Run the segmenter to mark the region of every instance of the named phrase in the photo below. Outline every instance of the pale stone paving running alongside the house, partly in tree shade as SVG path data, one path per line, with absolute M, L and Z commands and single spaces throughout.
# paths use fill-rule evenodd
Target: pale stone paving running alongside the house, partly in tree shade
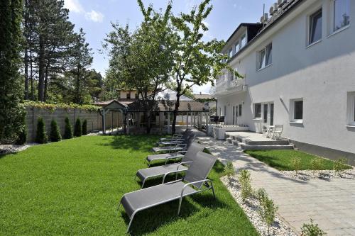
M 355 235 L 354 179 L 291 179 L 226 141 L 206 136 L 198 140 L 222 162 L 233 161 L 236 172 L 249 169 L 253 189 L 266 189 L 279 207 L 280 218 L 297 233 L 312 218 L 327 235 Z

